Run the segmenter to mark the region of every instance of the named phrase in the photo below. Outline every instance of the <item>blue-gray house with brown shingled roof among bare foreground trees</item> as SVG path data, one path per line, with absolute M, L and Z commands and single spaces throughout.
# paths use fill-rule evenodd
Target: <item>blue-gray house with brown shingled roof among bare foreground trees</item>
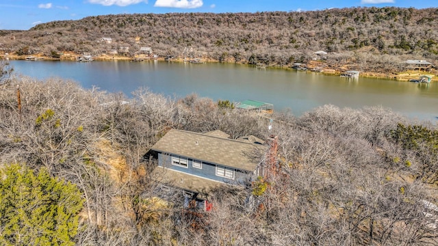
M 158 166 L 153 175 L 162 189 L 183 191 L 196 206 L 206 208 L 209 191 L 223 184 L 246 187 L 266 168 L 255 153 L 268 153 L 265 142 L 254 136 L 229 139 L 222 131 L 194 133 L 172 129 L 151 148 Z

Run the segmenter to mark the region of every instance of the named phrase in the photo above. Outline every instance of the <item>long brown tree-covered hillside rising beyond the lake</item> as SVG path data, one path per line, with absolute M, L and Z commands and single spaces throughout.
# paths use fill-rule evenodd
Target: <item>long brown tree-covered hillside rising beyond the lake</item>
M 329 64 L 394 69 L 438 57 L 438 9 L 344 8 L 308 12 L 118 14 L 54 21 L 1 37 L 4 51 L 92 53 L 150 46 L 162 57 L 289 64 L 329 52 Z M 101 38 L 113 42 L 101 42 Z

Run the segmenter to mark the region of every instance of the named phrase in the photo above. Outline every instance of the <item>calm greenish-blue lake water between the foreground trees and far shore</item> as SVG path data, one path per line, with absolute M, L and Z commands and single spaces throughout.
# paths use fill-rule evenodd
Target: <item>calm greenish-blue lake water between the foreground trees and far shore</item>
M 438 85 L 389 79 L 346 79 L 284 68 L 260 70 L 240 64 L 190 64 L 167 61 L 10 61 L 17 74 L 38 79 L 61 77 L 85 88 L 131 92 L 149 87 L 152 92 L 183 97 L 196 93 L 213 100 L 260 100 L 274 110 L 301 115 L 331 104 L 359 109 L 382 105 L 411 118 L 436 122 Z

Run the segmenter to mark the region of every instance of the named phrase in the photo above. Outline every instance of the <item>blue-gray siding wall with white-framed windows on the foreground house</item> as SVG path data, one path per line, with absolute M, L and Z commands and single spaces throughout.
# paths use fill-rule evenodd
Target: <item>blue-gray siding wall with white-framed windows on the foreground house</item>
M 176 155 L 173 155 L 175 157 L 179 157 Z M 184 157 L 184 156 L 181 156 Z M 197 160 L 200 161 L 200 160 Z M 209 178 L 211 180 L 216 180 L 220 182 L 226 182 L 231 184 L 244 184 L 244 182 L 247 182 L 250 180 L 251 176 L 253 175 L 252 172 L 246 172 L 239 169 L 234 169 L 234 179 L 230 178 L 224 178 L 222 176 L 216 175 L 216 165 L 213 163 L 202 163 L 202 169 L 193 167 L 193 159 L 188 158 L 188 167 L 180 167 L 178 165 L 172 165 L 172 155 L 171 154 L 164 154 L 159 153 L 158 154 L 158 165 L 160 167 L 166 167 L 168 169 L 173 169 L 179 172 L 185 172 L 187 174 L 192 174 L 196 176 L 200 176 L 203 178 Z M 223 167 L 223 166 L 220 166 Z

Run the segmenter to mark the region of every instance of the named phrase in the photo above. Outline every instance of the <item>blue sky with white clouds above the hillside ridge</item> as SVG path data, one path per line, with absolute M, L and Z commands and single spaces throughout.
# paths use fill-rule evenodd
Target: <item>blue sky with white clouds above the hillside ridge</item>
M 311 11 L 350 7 L 437 8 L 437 0 L 0 0 L 0 29 L 104 14 Z

